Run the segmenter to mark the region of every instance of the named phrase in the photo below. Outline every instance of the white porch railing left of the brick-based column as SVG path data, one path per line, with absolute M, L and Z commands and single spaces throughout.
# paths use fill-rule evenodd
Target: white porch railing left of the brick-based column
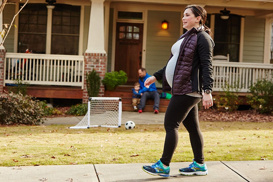
M 83 56 L 6 53 L 4 69 L 4 85 L 22 79 L 31 85 L 81 86 L 83 89 Z

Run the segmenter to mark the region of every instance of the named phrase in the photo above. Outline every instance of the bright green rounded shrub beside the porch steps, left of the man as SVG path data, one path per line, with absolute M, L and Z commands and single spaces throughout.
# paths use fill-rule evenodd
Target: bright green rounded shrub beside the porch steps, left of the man
M 105 73 L 102 83 L 106 86 L 107 90 L 115 90 L 117 86 L 125 84 L 127 79 L 126 72 L 122 70 L 120 72 L 112 71 Z

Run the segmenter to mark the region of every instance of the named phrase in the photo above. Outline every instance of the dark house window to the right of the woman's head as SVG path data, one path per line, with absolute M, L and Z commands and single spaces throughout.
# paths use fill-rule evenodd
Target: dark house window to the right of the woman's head
M 239 62 L 241 17 L 230 16 L 223 20 L 215 15 L 214 56 L 229 54 L 230 62 Z

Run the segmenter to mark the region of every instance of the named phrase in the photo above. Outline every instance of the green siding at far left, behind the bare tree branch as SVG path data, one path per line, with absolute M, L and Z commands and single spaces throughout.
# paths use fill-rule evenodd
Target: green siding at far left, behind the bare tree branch
M 5 8 L 3 10 L 3 23 L 10 24 L 14 15 L 15 15 L 15 5 L 13 4 L 5 5 Z M 7 52 L 14 52 L 14 30 L 15 30 L 15 27 L 12 26 L 4 42 L 4 47 L 7 50 Z

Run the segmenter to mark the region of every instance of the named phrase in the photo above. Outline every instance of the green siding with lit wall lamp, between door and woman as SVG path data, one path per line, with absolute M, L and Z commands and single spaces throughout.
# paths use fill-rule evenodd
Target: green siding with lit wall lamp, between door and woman
M 163 68 L 170 57 L 171 47 L 180 35 L 180 12 L 148 11 L 146 70 L 152 75 Z M 163 20 L 169 22 L 168 29 L 161 29 Z M 161 87 L 157 83 L 158 87 Z

